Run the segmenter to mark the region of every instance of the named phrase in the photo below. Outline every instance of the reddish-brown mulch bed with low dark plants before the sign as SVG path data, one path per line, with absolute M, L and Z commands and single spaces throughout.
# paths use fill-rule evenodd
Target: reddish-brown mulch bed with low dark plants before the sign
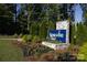
M 41 43 L 32 43 L 23 45 L 22 42 L 14 41 L 14 45 L 22 48 L 24 61 L 26 62 L 75 62 L 77 50 L 69 51 L 54 51 L 50 47 L 43 46 Z

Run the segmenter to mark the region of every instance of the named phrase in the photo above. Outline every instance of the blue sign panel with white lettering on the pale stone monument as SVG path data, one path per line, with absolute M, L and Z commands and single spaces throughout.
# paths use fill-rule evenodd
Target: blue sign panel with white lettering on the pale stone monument
M 50 31 L 51 40 L 56 40 L 61 43 L 66 43 L 66 30 L 53 30 Z

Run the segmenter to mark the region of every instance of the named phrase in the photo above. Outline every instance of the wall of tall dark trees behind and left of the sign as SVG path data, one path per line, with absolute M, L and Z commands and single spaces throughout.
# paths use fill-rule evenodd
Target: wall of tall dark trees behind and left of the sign
M 67 9 L 70 11 L 70 6 L 73 4 L 0 4 L 0 33 L 42 35 L 42 39 L 46 39 L 50 29 L 55 29 L 56 21 L 69 18 Z

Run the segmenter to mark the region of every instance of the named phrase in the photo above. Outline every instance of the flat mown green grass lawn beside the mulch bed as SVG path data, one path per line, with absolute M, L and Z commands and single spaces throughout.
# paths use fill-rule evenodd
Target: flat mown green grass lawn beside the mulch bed
M 22 51 L 12 44 L 12 41 L 0 40 L 0 62 L 23 61 Z

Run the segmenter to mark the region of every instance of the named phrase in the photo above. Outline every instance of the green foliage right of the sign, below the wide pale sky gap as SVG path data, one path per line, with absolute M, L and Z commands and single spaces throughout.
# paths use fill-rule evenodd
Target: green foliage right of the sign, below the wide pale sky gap
M 84 25 L 81 23 L 78 23 L 78 25 L 77 25 L 77 32 L 76 32 L 76 35 L 77 35 L 76 42 L 78 44 L 87 42 L 87 31 L 86 31 L 86 29 L 87 29 L 86 25 Z

